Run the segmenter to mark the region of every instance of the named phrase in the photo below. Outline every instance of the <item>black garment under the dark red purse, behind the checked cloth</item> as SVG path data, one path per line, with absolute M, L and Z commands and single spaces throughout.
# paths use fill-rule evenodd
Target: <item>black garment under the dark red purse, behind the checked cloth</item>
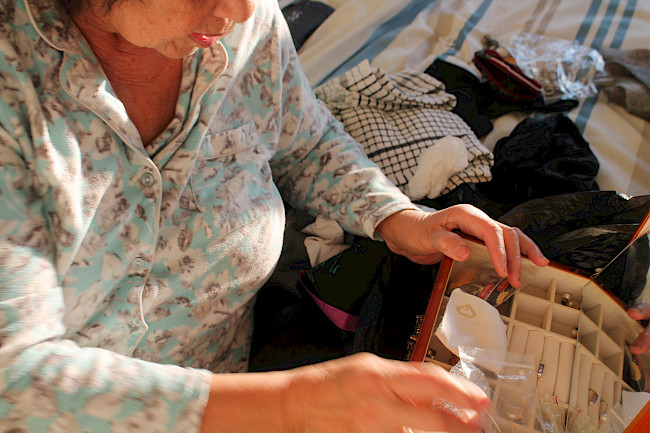
M 541 99 L 514 103 L 468 70 L 440 59 L 436 59 L 424 72 L 443 82 L 445 90 L 456 96 L 457 106 L 454 112 L 470 125 L 478 137 L 485 136 L 492 130 L 491 119 L 506 113 L 558 113 L 578 106 L 578 101 L 572 99 L 548 105 Z

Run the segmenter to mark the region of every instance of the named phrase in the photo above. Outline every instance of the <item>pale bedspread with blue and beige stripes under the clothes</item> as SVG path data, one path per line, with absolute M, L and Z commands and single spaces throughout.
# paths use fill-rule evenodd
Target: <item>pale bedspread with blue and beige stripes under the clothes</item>
M 285 4 L 288 3 L 285 1 Z M 289 2 L 290 3 L 290 2 Z M 486 34 L 508 40 L 541 34 L 588 47 L 650 46 L 650 3 L 638 0 L 324 0 L 334 12 L 299 50 L 317 87 L 363 60 L 391 74 L 422 72 L 443 59 L 480 76 L 472 64 Z M 523 119 L 499 117 L 481 139 L 492 149 Z M 598 158 L 602 190 L 650 193 L 650 123 L 599 94 L 568 113 Z

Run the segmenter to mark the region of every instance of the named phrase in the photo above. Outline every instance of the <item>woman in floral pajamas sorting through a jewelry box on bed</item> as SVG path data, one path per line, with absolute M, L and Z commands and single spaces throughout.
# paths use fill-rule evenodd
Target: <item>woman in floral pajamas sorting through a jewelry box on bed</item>
M 454 229 L 515 285 L 520 254 L 547 263 L 390 185 L 314 98 L 275 0 L 1 4 L 2 431 L 481 427 L 487 397 L 431 365 L 242 373 L 283 199 L 419 263 L 467 259 Z

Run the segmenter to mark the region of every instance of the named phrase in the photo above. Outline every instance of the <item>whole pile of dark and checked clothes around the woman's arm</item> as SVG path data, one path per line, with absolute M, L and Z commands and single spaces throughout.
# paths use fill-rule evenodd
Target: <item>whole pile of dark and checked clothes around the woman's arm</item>
M 297 48 L 332 12 L 314 1 L 285 3 Z M 648 50 L 602 54 L 608 75 L 598 88 L 648 119 Z M 650 195 L 600 191 L 598 159 L 565 115 L 577 100 L 508 97 L 440 59 L 423 73 L 393 75 L 363 62 L 315 93 L 424 209 L 473 204 L 520 227 L 547 257 L 577 273 L 607 266 L 597 282 L 624 303 L 640 295 L 650 266 L 647 238 L 609 262 L 650 209 Z M 530 116 L 488 150 L 480 139 L 510 112 Z M 404 358 L 437 267 L 415 265 L 382 242 L 346 235 L 327 221 L 293 209 L 287 214 L 285 250 L 259 293 L 264 309 L 256 313 L 251 369 L 291 368 L 357 351 Z

